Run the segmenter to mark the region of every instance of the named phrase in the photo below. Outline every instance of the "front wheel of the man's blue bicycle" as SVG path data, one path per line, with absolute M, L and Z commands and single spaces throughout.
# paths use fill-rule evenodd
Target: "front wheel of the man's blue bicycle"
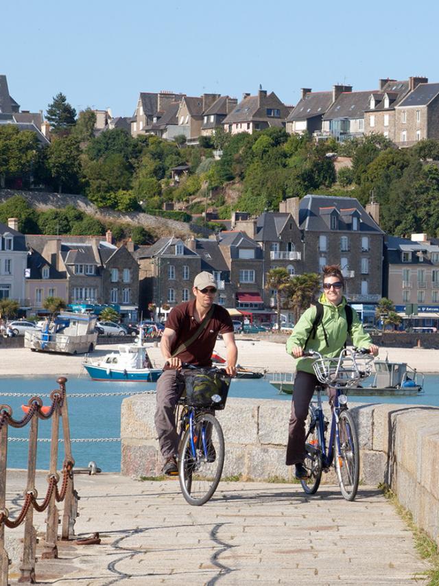
M 224 435 L 214 415 L 203 413 L 187 427 L 178 460 L 178 478 L 189 504 L 200 506 L 215 493 L 224 466 Z

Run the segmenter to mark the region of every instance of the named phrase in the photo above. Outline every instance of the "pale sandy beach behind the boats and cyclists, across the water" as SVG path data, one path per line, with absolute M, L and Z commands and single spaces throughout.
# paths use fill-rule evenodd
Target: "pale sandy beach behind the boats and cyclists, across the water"
M 163 366 L 160 347 L 147 344 L 150 358 L 156 366 Z M 259 366 L 272 372 L 294 371 L 294 360 L 285 352 L 284 344 L 256 340 L 237 340 L 238 362 L 243 366 Z M 98 344 L 93 357 L 116 351 L 115 344 Z M 218 340 L 215 350 L 225 356 L 224 342 Z M 439 351 L 420 348 L 383 348 L 379 358 L 407 362 L 423 373 L 439 373 Z M 26 376 L 54 375 L 78 377 L 82 373 L 83 356 L 32 352 L 27 348 L 4 349 L 1 352 L 0 375 Z

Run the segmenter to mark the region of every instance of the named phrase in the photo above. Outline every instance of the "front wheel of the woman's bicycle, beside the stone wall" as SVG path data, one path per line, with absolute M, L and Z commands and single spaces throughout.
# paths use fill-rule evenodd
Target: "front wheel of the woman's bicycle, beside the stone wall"
M 335 447 L 335 471 L 340 491 L 346 500 L 354 500 L 359 482 L 359 444 L 352 414 L 342 411 L 338 421 L 340 448 Z

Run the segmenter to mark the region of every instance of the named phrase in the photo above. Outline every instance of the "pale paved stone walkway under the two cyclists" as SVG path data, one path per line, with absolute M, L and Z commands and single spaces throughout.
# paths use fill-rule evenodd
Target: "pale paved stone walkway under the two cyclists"
M 8 473 L 8 501 L 24 482 Z M 102 543 L 60 542 L 60 559 L 36 564 L 40 584 L 403 586 L 415 577 L 416 585 L 425 583 L 427 566 L 411 532 L 372 487 L 360 487 L 350 503 L 329 485 L 307 497 L 298 484 L 222 482 L 202 507 L 185 502 L 178 480 L 103 473 L 77 476 L 75 487 L 75 533 L 98 531 Z M 14 515 L 16 507 L 10 510 Z M 44 513 L 35 518 L 43 531 Z M 11 585 L 16 577 L 12 571 Z

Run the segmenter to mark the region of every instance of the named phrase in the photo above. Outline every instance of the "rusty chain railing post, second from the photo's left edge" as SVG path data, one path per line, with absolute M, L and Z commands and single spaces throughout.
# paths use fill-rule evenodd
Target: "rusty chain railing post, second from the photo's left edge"
M 32 397 L 29 401 L 29 408 L 38 397 Z M 39 399 L 41 401 L 41 399 Z M 27 456 L 27 486 L 25 495 L 32 491 L 36 496 L 35 470 L 36 470 L 36 446 L 38 440 L 38 415 L 30 422 L 29 431 L 29 453 Z M 35 553 L 36 553 L 36 530 L 34 528 L 34 507 L 29 506 L 25 520 L 25 537 L 23 540 L 23 561 L 20 566 L 21 576 L 19 582 L 35 583 Z

